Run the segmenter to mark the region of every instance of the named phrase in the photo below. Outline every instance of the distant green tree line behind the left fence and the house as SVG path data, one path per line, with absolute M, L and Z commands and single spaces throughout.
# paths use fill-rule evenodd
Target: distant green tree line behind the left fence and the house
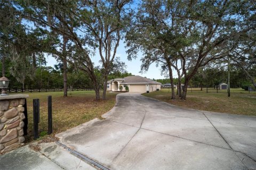
M 6 71 L 5 76 L 11 80 L 10 88 L 23 88 L 23 89 L 63 89 L 63 64 L 59 63 L 51 66 L 40 66 L 37 67 L 34 73 L 29 73 L 20 81 L 19 78 L 15 77 L 10 71 L 12 67 L 12 62 L 5 62 Z M 2 64 L 0 63 L 0 69 L 2 69 Z M 100 71 L 98 71 L 99 79 L 101 77 Z M 1 71 L 0 71 L 1 74 Z M 33 75 L 31 75 L 33 74 Z M 116 71 L 109 74 L 109 79 L 124 78 L 131 76 L 131 73 Z M 75 69 L 72 65 L 68 66 L 67 69 L 67 88 L 85 88 L 93 89 L 93 83 L 89 75 L 84 74 L 79 69 Z M 103 89 L 103 81 L 100 82 L 100 88 Z

